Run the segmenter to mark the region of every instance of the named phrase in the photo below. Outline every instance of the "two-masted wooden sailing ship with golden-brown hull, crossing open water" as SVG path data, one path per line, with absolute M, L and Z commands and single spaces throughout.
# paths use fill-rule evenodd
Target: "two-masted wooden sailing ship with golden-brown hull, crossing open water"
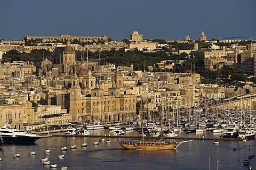
M 141 104 L 142 111 L 142 104 Z M 143 111 L 141 116 L 141 120 L 143 120 Z M 161 115 L 161 133 L 162 133 L 162 115 Z M 141 121 L 141 126 L 143 127 L 143 121 Z M 163 140 L 163 134 L 161 135 L 161 140 L 153 139 L 153 140 L 145 140 L 143 135 L 142 128 L 142 139 L 130 139 L 121 141 L 120 145 L 124 149 L 133 149 L 133 150 L 167 150 L 167 149 L 176 149 L 181 143 L 185 143 L 188 141 L 181 142 L 165 142 Z

